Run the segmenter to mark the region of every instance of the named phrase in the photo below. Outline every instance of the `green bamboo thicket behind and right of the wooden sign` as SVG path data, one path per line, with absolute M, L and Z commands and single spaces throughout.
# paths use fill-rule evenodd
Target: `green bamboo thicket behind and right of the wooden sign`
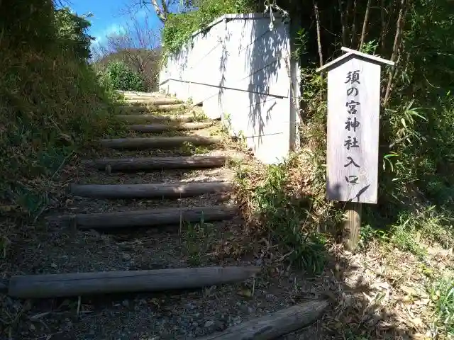
M 293 9 L 291 16 L 306 15 L 302 12 L 307 4 L 296 8 L 290 2 L 287 8 Z M 333 22 L 333 18 L 340 20 L 341 16 L 336 6 L 319 5 L 321 25 L 329 22 L 335 32 L 322 36 L 323 57 L 332 60 L 338 56 L 343 31 L 341 23 Z M 364 16 L 364 5 L 356 8 L 359 17 Z M 395 27 L 398 8 L 391 1 L 384 1 L 384 6 L 391 11 L 390 22 Z M 380 11 L 371 13 L 369 19 L 377 25 L 370 25 L 362 52 L 389 58 L 394 33 L 381 31 Z M 326 85 L 323 78 L 314 74 L 319 59 L 316 31 L 305 23 L 295 37 L 304 65 L 301 142 L 313 154 L 326 159 Z M 445 1 L 419 0 L 409 6 L 392 95 L 380 117 L 379 205 L 366 208 L 363 222 L 370 227 L 362 235 L 363 245 L 370 238 L 378 238 L 422 254 L 418 241 L 438 242 L 446 247 L 454 244 L 454 216 L 450 213 L 454 208 L 454 45 L 448 42 L 454 38 L 453 23 L 452 4 Z M 346 45 L 356 48 L 360 32 L 353 35 L 350 29 L 345 28 L 345 40 L 352 45 Z M 299 47 L 300 41 L 304 48 Z M 384 69 L 383 93 L 387 71 Z

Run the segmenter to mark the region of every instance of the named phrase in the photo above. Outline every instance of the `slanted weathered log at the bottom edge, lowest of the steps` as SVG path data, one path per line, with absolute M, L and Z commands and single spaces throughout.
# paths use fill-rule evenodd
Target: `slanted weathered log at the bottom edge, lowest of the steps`
M 297 329 L 309 326 L 319 319 L 328 307 L 328 300 L 311 300 L 285 310 L 251 319 L 223 332 L 200 340 L 271 340 Z

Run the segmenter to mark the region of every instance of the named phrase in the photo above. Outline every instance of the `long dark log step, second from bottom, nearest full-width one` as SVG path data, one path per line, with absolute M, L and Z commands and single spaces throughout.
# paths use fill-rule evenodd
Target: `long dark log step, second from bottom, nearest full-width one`
M 230 266 L 12 276 L 8 294 L 47 298 L 194 289 L 240 282 L 259 272 L 255 266 Z

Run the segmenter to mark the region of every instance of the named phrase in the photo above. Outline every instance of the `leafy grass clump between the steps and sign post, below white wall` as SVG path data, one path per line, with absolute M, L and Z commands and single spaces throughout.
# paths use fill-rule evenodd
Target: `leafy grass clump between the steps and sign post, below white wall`
M 327 240 L 323 234 L 316 233 L 316 225 L 336 220 L 336 217 L 331 212 L 324 216 L 311 212 L 317 205 L 316 198 L 305 196 L 295 188 L 301 180 L 301 174 L 294 171 L 299 165 L 298 154 L 282 164 L 267 166 L 260 174 L 240 164 L 236 183 L 239 199 L 248 201 L 248 214 L 265 227 L 263 232 L 279 245 L 289 261 L 309 272 L 319 273 L 326 261 Z M 259 183 L 254 182 L 255 176 L 260 178 Z

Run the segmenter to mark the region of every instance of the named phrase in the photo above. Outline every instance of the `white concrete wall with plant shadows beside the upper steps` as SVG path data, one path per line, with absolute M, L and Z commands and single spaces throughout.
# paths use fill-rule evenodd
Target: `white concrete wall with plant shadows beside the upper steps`
M 291 69 L 297 65 L 290 61 L 288 24 L 269 25 L 262 14 L 218 18 L 167 60 L 160 89 L 201 103 L 206 115 L 222 118 L 255 157 L 272 164 L 296 145 Z

